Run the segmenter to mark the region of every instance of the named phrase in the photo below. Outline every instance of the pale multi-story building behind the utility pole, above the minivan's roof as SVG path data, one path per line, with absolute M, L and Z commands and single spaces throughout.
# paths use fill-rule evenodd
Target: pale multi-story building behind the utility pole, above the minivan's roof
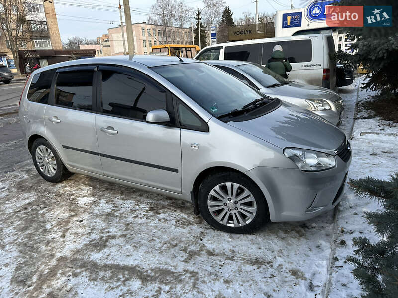
M 128 53 L 127 33 L 124 25 L 124 40 L 126 51 Z M 152 51 L 152 46 L 163 44 L 186 44 L 192 45 L 191 28 L 168 27 L 155 24 L 147 24 L 146 22 L 134 23 L 134 49 L 139 55 L 147 55 Z M 108 29 L 109 44 L 111 55 L 123 55 L 123 38 L 121 27 Z

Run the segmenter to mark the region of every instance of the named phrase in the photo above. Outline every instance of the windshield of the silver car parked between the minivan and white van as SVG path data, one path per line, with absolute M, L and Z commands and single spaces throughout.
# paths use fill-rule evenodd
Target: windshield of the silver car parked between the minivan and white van
M 237 68 L 241 69 L 245 73 L 249 74 L 255 80 L 257 80 L 264 87 L 271 86 L 273 84 L 287 83 L 279 74 L 274 73 L 269 68 L 264 67 L 257 63 L 248 63 L 238 65 Z

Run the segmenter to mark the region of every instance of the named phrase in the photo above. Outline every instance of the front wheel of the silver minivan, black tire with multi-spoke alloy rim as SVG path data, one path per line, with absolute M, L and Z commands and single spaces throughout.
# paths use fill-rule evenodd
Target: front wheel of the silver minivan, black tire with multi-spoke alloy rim
M 216 173 L 203 179 L 198 206 L 208 224 L 228 233 L 252 233 L 269 221 L 268 205 L 260 188 L 236 172 Z

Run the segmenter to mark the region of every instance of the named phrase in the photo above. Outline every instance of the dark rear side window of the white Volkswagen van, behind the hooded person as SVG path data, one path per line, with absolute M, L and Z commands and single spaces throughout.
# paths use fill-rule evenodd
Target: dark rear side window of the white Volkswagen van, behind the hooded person
M 290 63 L 309 62 L 312 60 L 312 42 L 310 39 L 275 41 L 263 44 L 262 64 L 267 64 L 268 59 L 271 58 L 272 49 L 276 45 L 282 46 L 283 53 Z

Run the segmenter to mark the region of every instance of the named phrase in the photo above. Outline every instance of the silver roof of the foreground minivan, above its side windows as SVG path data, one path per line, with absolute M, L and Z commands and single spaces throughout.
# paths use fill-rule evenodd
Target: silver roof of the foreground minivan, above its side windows
M 181 57 L 183 62 L 181 62 L 178 57 L 175 56 L 158 56 L 158 55 L 118 55 L 118 56 L 105 56 L 105 57 L 93 57 L 93 58 L 86 58 L 86 59 L 77 59 L 72 61 L 65 61 L 61 63 L 56 63 L 49 65 L 46 69 L 51 68 L 59 68 L 65 66 L 74 66 L 74 65 L 81 65 L 81 64 L 95 64 L 95 63 L 104 63 L 104 64 L 128 64 L 131 62 L 140 63 L 147 67 L 153 66 L 162 66 L 162 65 L 171 65 L 171 64 L 180 64 L 180 63 L 194 63 L 200 62 L 198 60 L 190 59 L 190 58 L 183 58 Z

